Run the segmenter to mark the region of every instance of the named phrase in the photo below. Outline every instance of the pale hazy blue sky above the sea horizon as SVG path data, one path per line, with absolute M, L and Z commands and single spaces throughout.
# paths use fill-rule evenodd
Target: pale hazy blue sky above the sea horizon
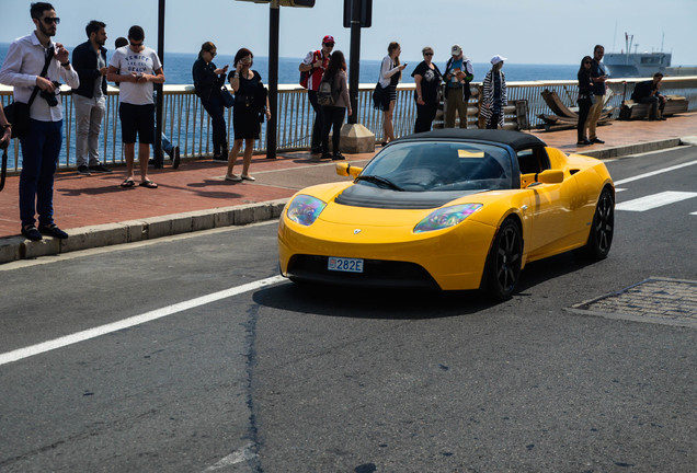
M 30 1 L 0 0 L 0 43 L 34 30 Z M 139 24 L 146 44 L 157 49 L 158 0 L 55 0 L 61 19 L 55 41 L 73 47 L 87 39 L 90 20 L 107 24 L 107 47 Z M 279 56 L 302 58 L 333 35 L 335 49 L 348 58 L 351 34 L 343 27 L 344 0 L 316 0 L 312 9 L 281 8 Z M 118 5 L 118 7 L 117 7 Z M 218 54 L 248 47 L 268 55 L 268 4 L 239 0 L 167 0 L 164 48 L 198 53 L 213 41 Z M 435 49 L 445 62 L 460 44 L 473 62 L 502 55 L 513 64 L 576 65 L 593 46 L 606 53 L 625 48 L 625 32 L 639 51 L 673 54 L 673 66 L 697 65 L 697 0 L 373 0 L 373 26 L 361 34 L 361 57 L 381 59 L 397 41 L 403 61 L 421 60 L 421 49 Z M 663 37 L 664 35 L 664 37 Z M 633 47 L 632 47 L 633 50 Z

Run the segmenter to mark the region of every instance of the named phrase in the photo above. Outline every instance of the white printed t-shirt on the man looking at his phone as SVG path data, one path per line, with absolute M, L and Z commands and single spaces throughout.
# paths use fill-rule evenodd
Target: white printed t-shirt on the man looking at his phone
M 162 67 L 158 54 L 146 47 L 140 53 L 134 53 L 130 46 L 124 46 L 114 51 L 110 66 L 121 71 L 122 76 L 130 74 L 130 72 L 141 72 L 152 74 Z M 152 100 L 152 82 L 121 82 L 119 100 L 122 103 L 132 105 L 148 105 L 155 103 Z

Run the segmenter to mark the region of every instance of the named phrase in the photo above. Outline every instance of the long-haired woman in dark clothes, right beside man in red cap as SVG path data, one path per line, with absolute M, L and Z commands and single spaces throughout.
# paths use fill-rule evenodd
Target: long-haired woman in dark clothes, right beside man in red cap
M 324 115 L 324 127 L 322 129 L 322 159 L 343 160 L 344 155 L 339 149 L 341 140 L 341 126 L 344 123 L 344 115 L 351 109 L 351 99 L 348 97 L 348 85 L 346 84 L 346 59 L 344 54 L 336 50 L 329 59 L 329 66 L 322 76 L 322 81 L 318 90 L 318 102 L 322 105 Z M 332 135 L 332 151 L 329 152 L 329 131 L 334 129 Z

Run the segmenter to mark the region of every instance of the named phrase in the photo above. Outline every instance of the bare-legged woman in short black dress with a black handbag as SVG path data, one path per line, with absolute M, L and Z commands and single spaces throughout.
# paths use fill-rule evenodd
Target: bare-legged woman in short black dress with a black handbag
M 232 109 L 232 128 L 235 129 L 235 143 L 228 157 L 228 173 L 226 181 L 240 182 L 254 181 L 249 174 L 249 165 L 254 152 L 254 140 L 259 139 L 263 115 L 271 118 L 268 109 L 268 96 L 261 81 L 261 76 L 252 70 L 254 55 L 247 48 L 241 48 L 235 55 L 235 70 L 228 79 L 235 91 L 235 107 Z M 237 157 L 244 141 L 244 157 L 242 161 L 242 174 L 232 174 Z

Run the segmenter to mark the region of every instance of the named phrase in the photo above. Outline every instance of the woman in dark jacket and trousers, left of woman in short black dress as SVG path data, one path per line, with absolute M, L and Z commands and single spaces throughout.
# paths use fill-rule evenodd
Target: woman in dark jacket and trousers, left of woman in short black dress
M 225 74 L 228 67 L 216 68 L 213 58 L 216 57 L 216 45 L 206 42 L 201 46 L 198 59 L 194 62 L 192 74 L 196 95 L 201 99 L 203 107 L 210 115 L 213 125 L 213 160 L 228 160 L 228 137 L 225 125 L 225 100 L 222 94 L 230 94 L 225 88 Z M 231 100 L 231 96 L 229 97 Z M 229 106 L 229 105 L 228 105 Z

